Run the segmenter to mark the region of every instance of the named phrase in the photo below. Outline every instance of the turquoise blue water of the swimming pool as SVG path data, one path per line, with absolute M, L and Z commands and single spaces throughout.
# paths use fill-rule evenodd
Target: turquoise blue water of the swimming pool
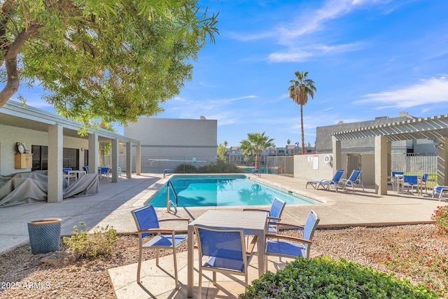
M 174 176 L 170 180 L 178 197 L 178 207 L 231 207 L 270 205 L 274 197 L 287 204 L 314 204 L 315 200 L 273 188 L 246 176 Z M 172 188 L 169 199 L 176 202 Z M 148 204 L 167 207 L 167 186 L 156 193 Z

